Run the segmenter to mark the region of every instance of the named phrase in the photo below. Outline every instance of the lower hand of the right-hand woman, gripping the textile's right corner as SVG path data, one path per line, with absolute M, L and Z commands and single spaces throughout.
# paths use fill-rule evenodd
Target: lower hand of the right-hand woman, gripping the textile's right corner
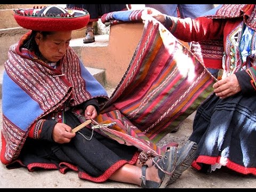
M 229 75 L 214 83 L 213 89 L 220 99 L 227 98 L 242 90 L 235 74 Z

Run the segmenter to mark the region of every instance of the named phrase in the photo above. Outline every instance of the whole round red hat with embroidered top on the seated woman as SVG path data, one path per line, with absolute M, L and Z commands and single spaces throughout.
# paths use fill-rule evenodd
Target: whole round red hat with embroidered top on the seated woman
M 56 5 L 44 8 L 14 10 L 17 23 L 37 31 L 65 31 L 81 29 L 87 25 L 90 14 L 86 10 L 63 9 Z

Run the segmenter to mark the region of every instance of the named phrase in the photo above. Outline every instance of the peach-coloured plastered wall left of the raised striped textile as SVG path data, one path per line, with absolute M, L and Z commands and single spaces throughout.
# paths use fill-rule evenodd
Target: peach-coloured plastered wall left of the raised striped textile
M 107 46 L 84 46 L 81 58 L 87 67 L 105 69 L 106 82 L 116 86 L 121 81 L 143 32 L 143 23 L 122 23 L 110 27 Z

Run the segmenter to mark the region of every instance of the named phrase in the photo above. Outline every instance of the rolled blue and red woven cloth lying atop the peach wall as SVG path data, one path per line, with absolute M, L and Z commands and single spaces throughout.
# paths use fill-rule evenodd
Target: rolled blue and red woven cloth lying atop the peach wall
M 141 13 L 142 10 L 114 11 L 105 13 L 101 16 L 101 22 L 106 26 L 127 22 L 142 22 Z

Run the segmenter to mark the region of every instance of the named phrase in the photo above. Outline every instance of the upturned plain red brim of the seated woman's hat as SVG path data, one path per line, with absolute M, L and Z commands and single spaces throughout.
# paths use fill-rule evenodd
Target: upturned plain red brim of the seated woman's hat
M 81 29 L 87 25 L 90 14 L 85 12 L 77 17 L 35 17 L 14 13 L 17 23 L 26 29 L 37 31 L 67 31 Z

